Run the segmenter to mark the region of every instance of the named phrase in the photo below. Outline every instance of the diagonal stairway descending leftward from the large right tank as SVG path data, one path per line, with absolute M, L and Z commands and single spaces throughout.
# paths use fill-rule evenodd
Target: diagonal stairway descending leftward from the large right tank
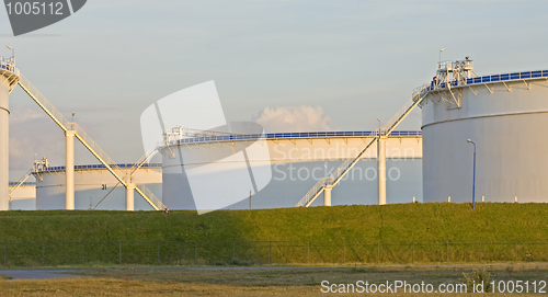
M 355 158 L 344 160 L 344 162 L 342 162 L 342 164 L 339 165 L 339 168 L 336 168 L 336 170 L 330 176 L 326 176 L 319 180 L 312 186 L 312 189 L 310 189 L 310 191 L 308 191 L 308 193 L 302 198 L 300 198 L 295 207 L 310 206 L 316 201 L 316 198 L 318 198 L 318 196 L 323 193 L 326 187 L 335 186 L 344 178 L 344 175 L 346 175 L 346 173 L 349 173 L 352 168 L 362 159 L 362 157 L 373 146 L 373 144 L 378 141 L 378 139 L 383 136 L 389 136 L 401 123 L 401 121 L 403 121 L 403 118 L 406 118 L 406 116 L 408 116 L 408 114 L 423 101 L 429 92 L 427 89 L 427 84 L 415 89 L 411 99 L 409 99 L 406 104 L 403 104 L 403 106 L 401 106 L 398 112 L 388 122 L 386 122 L 380 129 L 376 129 L 368 136 L 366 136 L 373 139 Z

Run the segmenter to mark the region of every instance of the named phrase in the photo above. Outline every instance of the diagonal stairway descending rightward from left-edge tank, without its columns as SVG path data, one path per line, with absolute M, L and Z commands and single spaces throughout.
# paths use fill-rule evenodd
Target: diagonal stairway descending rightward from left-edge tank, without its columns
M 44 96 L 31 81 L 20 75 L 19 87 L 23 89 L 38 106 L 66 133 L 68 127 L 75 130 L 76 138 L 111 172 L 121 184 L 127 189 L 127 183 L 119 176 L 115 170 L 121 171 L 121 168 L 106 155 L 106 152 L 76 123 L 69 122 L 55 106 Z M 144 184 L 136 185 L 135 191 L 150 205 L 155 210 L 168 209 L 165 205 Z

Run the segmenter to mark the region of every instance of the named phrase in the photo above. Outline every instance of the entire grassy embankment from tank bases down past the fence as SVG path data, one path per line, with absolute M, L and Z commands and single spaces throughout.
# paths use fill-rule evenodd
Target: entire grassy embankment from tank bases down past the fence
M 126 242 L 123 263 L 141 264 L 156 264 L 158 249 L 161 264 L 190 264 L 196 259 L 198 264 L 230 264 L 232 258 L 265 264 L 271 254 L 274 263 L 445 262 L 447 254 L 450 262 L 478 262 L 480 241 L 483 262 L 513 261 L 516 248 L 520 262 L 548 261 L 548 244 L 544 244 L 548 243 L 548 204 L 478 203 L 475 210 L 470 204 L 454 203 L 354 205 L 218 210 L 202 216 L 195 212 L 2 212 L 0 224 L 0 244 L 8 243 L 7 262 L 26 266 L 78 264 L 79 242 L 95 242 L 83 247 L 88 264 L 117 263 L 118 242 Z M 9 244 L 15 242 L 28 244 Z M 72 260 L 54 261 L 67 254 Z M 1 260 L 0 253 L 0 264 Z

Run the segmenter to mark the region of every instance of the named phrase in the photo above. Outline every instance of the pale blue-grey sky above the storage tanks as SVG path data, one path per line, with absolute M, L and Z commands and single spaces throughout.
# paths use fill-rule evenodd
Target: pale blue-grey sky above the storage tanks
M 0 46 L 114 160 L 133 162 L 141 112 L 204 81 L 215 80 L 229 121 L 320 106 L 330 129 L 369 130 L 432 79 L 441 48 L 442 59 L 470 56 L 479 75 L 548 69 L 547 11 L 545 1 L 90 0 L 18 37 L 0 12 Z M 62 165 L 60 129 L 22 90 L 10 100 L 10 180 L 35 153 Z M 415 111 L 400 129 L 420 126 Z M 79 148 L 77 163 L 95 162 Z

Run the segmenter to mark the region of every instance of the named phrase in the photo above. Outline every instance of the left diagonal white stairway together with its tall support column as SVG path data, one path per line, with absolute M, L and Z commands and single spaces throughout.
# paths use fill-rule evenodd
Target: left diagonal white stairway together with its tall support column
M 76 123 L 70 123 L 39 91 L 34 87 L 28 79 L 20 73 L 18 84 L 38 104 L 38 106 L 46 112 L 46 114 L 64 130 L 67 136 L 67 167 L 73 168 L 73 140 L 70 138 L 76 137 L 82 145 L 111 172 L 111 174 L 118 180 L 121 184 L 125 187 L 128 183 L 116 173 L 116 165 L 111 167 L 111 164 L 116 164 L 106 155 L 106 152 L 101 149 L 101 147 L 93 141 L 93 139 Z M 70 128 L 70 129 L 69 129 Z M 72 141 L 72 144 L 71 144 Z M 71 176 L 69 176 L 71 175 Z M 67 194 L 66 194 L 66 207 L 67 209 L 73 209 L 73 170 L 68 169 L 67 178 Z M 165 205 L 162 204 L 158 197 L 153 195 L 145 185 L 136 185 L 135 191 L 147 201 L 150 206 L 156 210 L 165 209 Z

